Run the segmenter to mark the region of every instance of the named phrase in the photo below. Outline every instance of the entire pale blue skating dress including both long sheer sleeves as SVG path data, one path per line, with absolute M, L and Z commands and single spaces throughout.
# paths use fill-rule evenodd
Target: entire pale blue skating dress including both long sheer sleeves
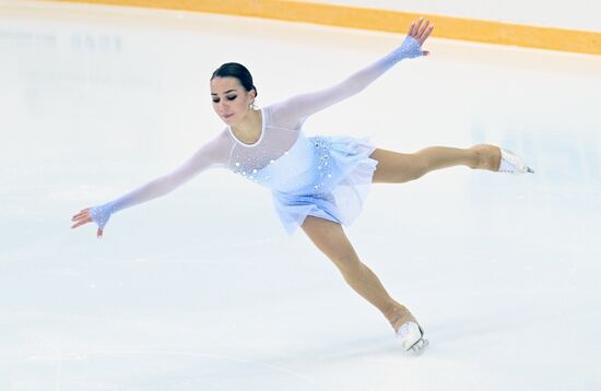
M 241 142 L 226 127 L 172 173 L 105 204 L 91 209 L 104 228 L 111 214 L 164 196 L 209 168 L 226 168 L 271 191 L 288 234 L 307 216 L 350 225 L 361 213 L 377 161 L 367 139 L 307 137 L 303 123 L 313 114 L 363 91 L 393 64 L 422 55 L 420 43 L 403 44 L 370 66 L 328 88 L 296 95 L 261 109 L 261 134 Z

